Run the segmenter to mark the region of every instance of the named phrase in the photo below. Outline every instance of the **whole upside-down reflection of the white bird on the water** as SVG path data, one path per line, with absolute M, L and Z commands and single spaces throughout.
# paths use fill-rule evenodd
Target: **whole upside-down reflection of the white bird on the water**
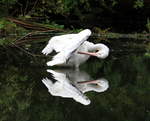
M 75 101 L 84 105 L 90 104 L 90 99 L 84 94 L 88 91 L 104 92 L 108 89 L 108 81 L 104 78 L 87 81 L 90 76 L 81 71 L 75 70 L 50 70 L 47 72 L 53 75 L 52 80 L 45 78 L 42 82 L 48 88 L 48 91 L 53 96 L 60 96 L 64 98 L 73 98 Z

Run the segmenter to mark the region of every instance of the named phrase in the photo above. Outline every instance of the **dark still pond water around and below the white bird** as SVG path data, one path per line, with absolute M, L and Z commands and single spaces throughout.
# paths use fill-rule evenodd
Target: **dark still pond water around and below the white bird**
M 46 61 L 14 48 L 1 50 L 0 121 L 150 121 L 150 58 L 145 53 L 112 52 L 106 60 L 90 58 L 79 70 L 51 68 L 55 79 L 46 72 Z M 67 80 L 59 82 L 66 91 L 54 89 L 56 73 Z M 55 94 L 70 98 L 52 96 L 45 78 Z M 79 83 L 102 78 L 104 90 Z

